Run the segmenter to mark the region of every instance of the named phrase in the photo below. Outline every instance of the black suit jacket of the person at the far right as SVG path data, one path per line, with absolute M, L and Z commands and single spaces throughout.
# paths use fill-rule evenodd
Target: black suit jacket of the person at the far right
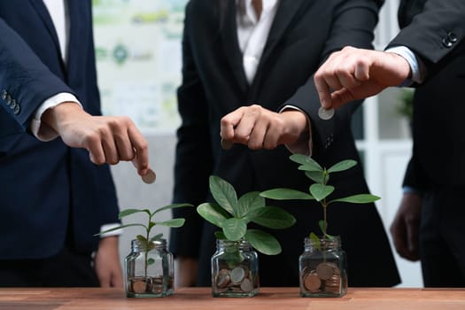
M 404 0 L 390 45 L 406 45 L 427 66 L 414 100 L 414 157 L 404 184 L 428 190 L 465 185 L 465 2 Z

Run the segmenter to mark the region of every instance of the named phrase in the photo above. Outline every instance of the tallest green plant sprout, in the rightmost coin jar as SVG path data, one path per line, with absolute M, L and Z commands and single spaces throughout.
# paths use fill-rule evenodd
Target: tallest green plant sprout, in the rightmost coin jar
M 345 171 L 357 165 L 357 162 L 352 159 L 345 159 L 337 164 L 326 169 L 320 166 L 314 159 L 302 154 L 293 154 L 290 159 L 298 164 L 298 170 L 305 172 L 306 177 L 312 180 L 314 183 L 310 185 L 307 192 L 292 189 L 274 189 L 265 190 L 260 193 L 260 197 L 270 198 L 275 200 L 287 200 L 287 199 L 306 199 L 316 200 L 322 205 L 323 219 L 319 221 L 319 227 L 322 230 L 322 237 L 332 239 L 333 236 L 328 234 L 328 221 L 327 221 L 327 209 L 328 206 L 337 202 L 346 202 L 353 204 L 368 204 L 375 202 L 380 199 L 379 197 L 371 194 L 358 194 L 348 196 L 345 198 L 337 198 L 329 200 L 329 195 L 334 192 L 335 188 L 329 185 L 329 174 Z M 310 233 L 310 238 L 314 240 L 316 244 L 319 244 L 319 238 L 313 232 Z

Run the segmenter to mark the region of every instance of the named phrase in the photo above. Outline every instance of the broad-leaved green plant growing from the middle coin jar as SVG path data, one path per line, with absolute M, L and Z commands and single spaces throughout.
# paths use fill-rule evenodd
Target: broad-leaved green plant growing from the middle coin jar
M 237 198 L 234 187 L 219 176 L 211 175 L 209 185 L 216 203 L 198 205 L 197 212 L 206 221 L 221 228 L 221 231 L 215 232 L 218 239 L 244 240 L 258 252 L 267 255 L 282 251 L 275 236 L 260 229 L 249 229 L 248 225 L 253 222 L 268 229 L 287 229 L 296 222 L 291 213 L 277 206 L 265 205 L 260 191 Z

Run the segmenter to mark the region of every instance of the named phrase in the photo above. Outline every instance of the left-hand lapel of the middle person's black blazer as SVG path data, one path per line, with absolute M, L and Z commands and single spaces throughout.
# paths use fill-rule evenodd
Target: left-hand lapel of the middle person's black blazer
M 248 84 L 244 73 L 243 55 L 237 40 L 236 1 L 234 0 L 228 1 L 226 16 L 221 28 L 221 40 L 231 71 L 236 77 L 239 88 L 245 92 Z

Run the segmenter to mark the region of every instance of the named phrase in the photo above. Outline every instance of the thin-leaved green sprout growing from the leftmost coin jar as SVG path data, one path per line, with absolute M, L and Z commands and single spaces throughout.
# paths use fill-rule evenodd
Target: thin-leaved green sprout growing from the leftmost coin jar
M 160 240 L 161 237 L 163 236 L 162 233 L 157 234 L 155 236 L 151 236 L 151 229 L 153 229 L 157 225 L 158 226 L 167 226 L 167 227 L 170 227 L 170 228 L 179 228 L 179 227 L 182 227 L 182 225 L 184 225 L 184 221 L 185 221 L 185 219 L 183 219 L 183 218 L 171 219 L 171 220 L 168 220 L 168 221 L 154 221 L 153 218 L 154 218 L 155 214 L 159 213 L 161 211 L 164 211 L 164 210 L 180 208 L 180 207 L 184 207 L 184 206 L 193 206 L 193 205 L 190 205 L 190 204 L 165 205 L 165 206 L 159 207 L 158 209 L 156 209 L 153 212 L 151 212 L 150 209 L 125 209 L 125 210 L 122 210 L 118 214 L 118 218 L 120 220 L 122 218 L 128 216 L 128 215 L 132 215 L 132 214 L 135 214 L 135 213 L 147 213 L 147 215 L 149 216 L 148 221 L 146 222 L 146 224 L 143 224 L 143 223 L 129 223 L 129 224 L 120 225 L 120 226 L 117 226 L 115 228 L 107 229 L 105 231 L 102 231 L 99 234 L 96 234 L 95 236 L 103 235 L 103 234 L 111 232 L 113 230 L 124 229 L 124 228 L 127 228 L 127 227 L 134 227 L 134 226 L 143 227 L 144 235 L 136 235 L 136 239 L 141 244 L 143 244 L 143 252 L 145 252 L 144 276 L 147 277 L 147 267 L 149 267 L 151 264 L 153 264 L 155 262 L 155 260 L 149 259 L 149 256 L 147 255 L 147 253 L 150 252 L 151 250 L 153 250 L 153 248 L 154 248 L 153 242 Z

